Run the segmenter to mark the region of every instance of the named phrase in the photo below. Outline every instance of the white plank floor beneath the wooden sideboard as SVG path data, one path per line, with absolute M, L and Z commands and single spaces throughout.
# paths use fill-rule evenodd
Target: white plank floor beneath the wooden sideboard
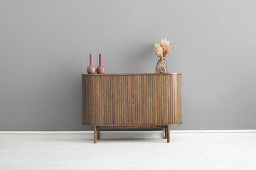
M 169 144 L 159 131 L 101 137 L 0 132 L 0 169 L 256 169 L 256 132 L 171 133 Z

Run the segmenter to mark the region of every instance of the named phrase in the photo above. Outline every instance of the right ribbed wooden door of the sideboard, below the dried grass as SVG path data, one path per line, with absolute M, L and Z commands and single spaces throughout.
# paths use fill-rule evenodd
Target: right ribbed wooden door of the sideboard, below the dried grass
M 171 125 L 181 123 L 181 77 L 134 75 L 132 124 Z

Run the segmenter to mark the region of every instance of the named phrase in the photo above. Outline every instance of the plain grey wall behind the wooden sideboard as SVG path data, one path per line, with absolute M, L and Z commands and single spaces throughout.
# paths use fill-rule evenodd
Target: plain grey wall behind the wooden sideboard
M 91 130 L 81 125 L 86 54 L 103 53 L 107 73 L 154 72 L 161 38 L 169 72 L 183 73 L 183 125 L 171 129 L 255 129 L 255 5 L 1 0 L 0 130 Z

